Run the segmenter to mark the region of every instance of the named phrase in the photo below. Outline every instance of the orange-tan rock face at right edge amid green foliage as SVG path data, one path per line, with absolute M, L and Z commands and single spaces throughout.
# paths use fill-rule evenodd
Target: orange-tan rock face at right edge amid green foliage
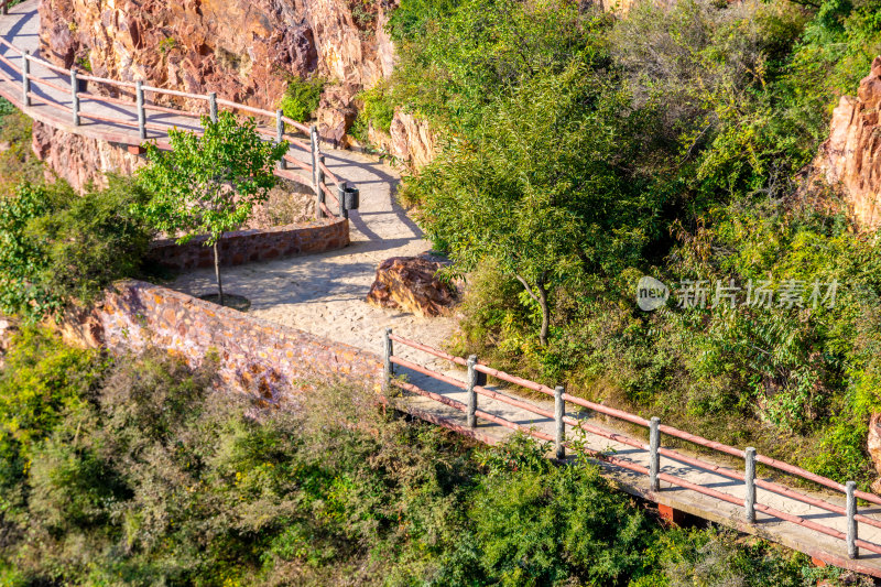
M 833 111 L 829 139 L 814 165 L 839 188 L 860 230 L 881 226 L 881 57 L 860 81 L 856 98 L 842 96 Z

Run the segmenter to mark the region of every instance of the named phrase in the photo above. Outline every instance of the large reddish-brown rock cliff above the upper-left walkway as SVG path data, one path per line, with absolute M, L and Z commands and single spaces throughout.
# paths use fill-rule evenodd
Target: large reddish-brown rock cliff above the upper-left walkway
M 43 0 L 42 53 L 95 75 L 274 109 L 290 76 L 349 97 L 391 73 L 392 3 L 350 0 Z

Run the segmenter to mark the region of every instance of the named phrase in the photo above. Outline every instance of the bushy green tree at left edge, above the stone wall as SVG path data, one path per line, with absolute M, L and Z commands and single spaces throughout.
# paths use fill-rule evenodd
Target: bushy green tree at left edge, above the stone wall
M 130 208 L 143 200 L 121 177 L 83 195 L 23 183 L 0 198 L 0 311 L 40 319 L 137 274 L 151 235 Z

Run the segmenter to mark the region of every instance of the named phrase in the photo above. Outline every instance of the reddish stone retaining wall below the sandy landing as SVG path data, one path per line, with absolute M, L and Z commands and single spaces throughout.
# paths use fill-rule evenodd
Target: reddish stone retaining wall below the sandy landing
M 135 354 L 153 347 L 192 367 L 216 355 L 220 387 L 272 405 L 295 405 L 317 382 L 342 379 L 377 392 L 382 383 L 379 355 L 140 281 L 118 283 L 88 313 L 69 314 L 61 329 L 83 346 Z

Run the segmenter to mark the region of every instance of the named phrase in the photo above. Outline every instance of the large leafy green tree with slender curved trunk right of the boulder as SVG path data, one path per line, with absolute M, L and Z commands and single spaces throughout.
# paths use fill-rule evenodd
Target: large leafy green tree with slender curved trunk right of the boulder
M 635 262 L 653 230 L 659 196 L 640 189 L 640 142 L 621 132 L 648 119 L 627 99 L 587 65 L 536 76 L 406 188 L 461 270 L 490 258 L 522 284 L 543 346 L 553 291 Z

